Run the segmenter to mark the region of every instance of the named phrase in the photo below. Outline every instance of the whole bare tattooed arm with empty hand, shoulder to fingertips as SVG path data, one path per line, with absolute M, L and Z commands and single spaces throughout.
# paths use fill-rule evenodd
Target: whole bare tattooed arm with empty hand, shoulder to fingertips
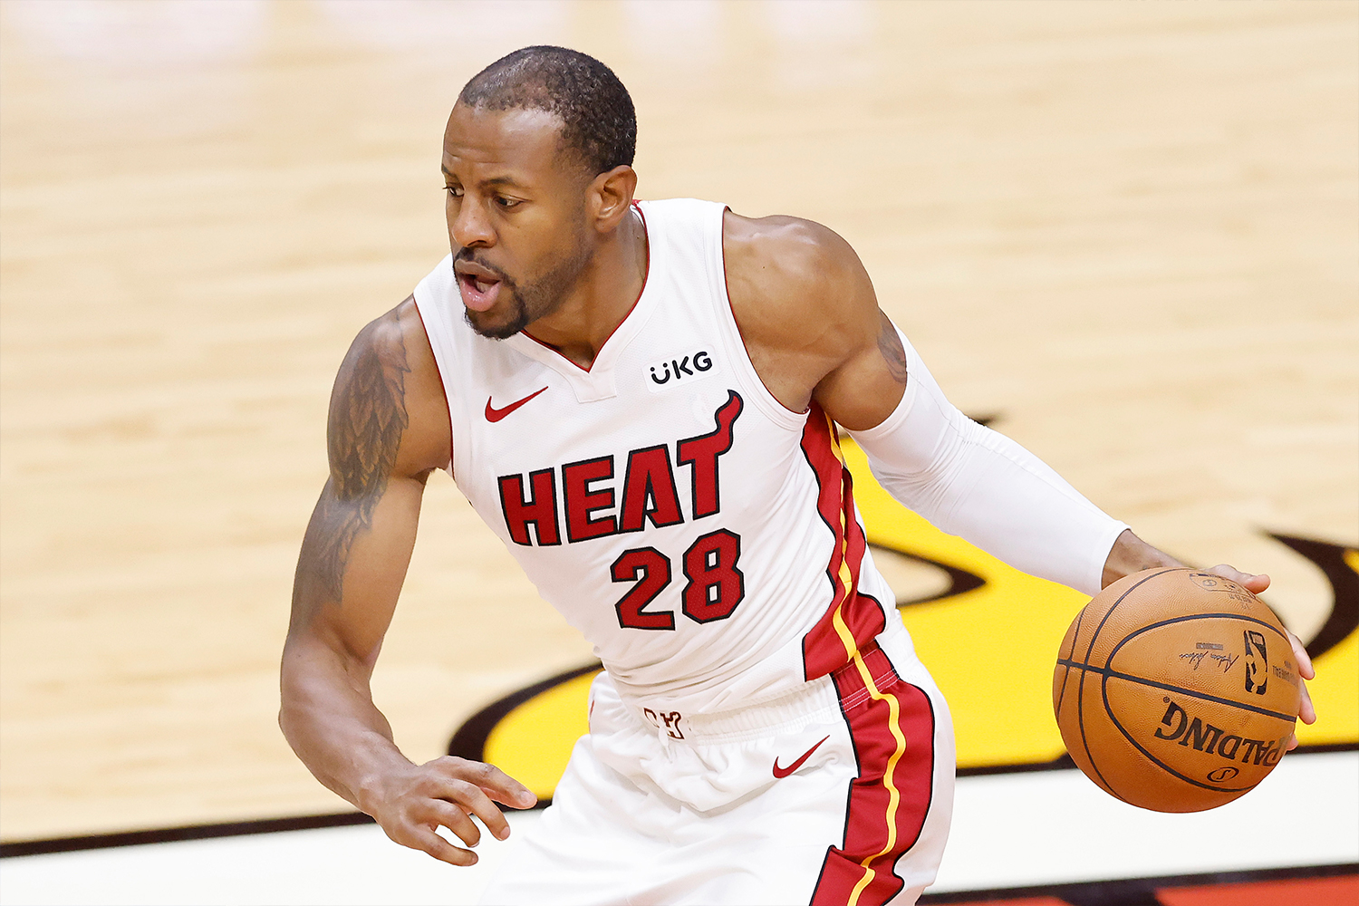
M 480 818 L 500 839 L 510 827 L 495 801 L 535 797 L 499 769 L 461 758 L 412 763 L 372 702 L 370 679 L 391 622 L 424 484 L 448 462 L 448 413 L 414 302 L 364 327 L 330 398 L 330 477 L 298 558 L 283 652 L 279 724 L 317 780 L 372 815 L 391 839 L 454 865 Z

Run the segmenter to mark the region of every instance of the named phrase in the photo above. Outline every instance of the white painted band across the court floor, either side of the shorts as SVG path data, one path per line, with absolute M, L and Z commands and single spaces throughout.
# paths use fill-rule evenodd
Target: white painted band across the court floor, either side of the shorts
M 514 833 L 531 833 L 540 815 L 512 812 Z M 1189 815 L 1133 808 L 1075 770 L 961 777 L 930 892 L 1347 865 L 1359 863 L 1356 815 L 1356 751 L 1284 758 L 1248 796 Z M 0 905 L 473 903 L 506 846 L 484 839 L 470 869 L 372 825 L 20 856 L 0 863 Z

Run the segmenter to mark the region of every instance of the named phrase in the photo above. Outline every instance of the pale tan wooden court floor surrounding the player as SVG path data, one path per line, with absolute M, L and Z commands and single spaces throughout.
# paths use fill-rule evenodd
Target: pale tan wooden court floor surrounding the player
M 0 837 L 347 808 L 275 724 L 326 397 L 447 251 L 453 99 L 525 43 L 618 72 L 643 197 L 830 225 L 965 412 L 1310 638 L 1332 583 L 1268 532 L 1359 569 L 1356 35 L 1349 0 L 0 3 Z M 590 660 L 431 479 L 375 678 L 406 754 Z M 1348 664 L 1305 742 L 1359 743 Z

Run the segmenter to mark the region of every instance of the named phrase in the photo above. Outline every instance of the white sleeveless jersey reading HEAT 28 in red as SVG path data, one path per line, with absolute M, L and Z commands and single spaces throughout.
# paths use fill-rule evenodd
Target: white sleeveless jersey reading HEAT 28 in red
M 834 429 L 786 409 L 727 300 L 724 206 L 640 202 L 636 306 L 582 368 L 477 336 L 444 258 L 414 299 L 458 486 L 621 694 L 716 712 L 790 691 L 901 630 Z

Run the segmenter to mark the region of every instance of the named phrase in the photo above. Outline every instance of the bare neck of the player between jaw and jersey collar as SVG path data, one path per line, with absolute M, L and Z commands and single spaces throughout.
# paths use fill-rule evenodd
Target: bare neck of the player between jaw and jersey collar
M 527 327 L 582 368 L 628 316 L 647 283 L 647 230 L 636 211 L 605 236 L 561 307 Z

